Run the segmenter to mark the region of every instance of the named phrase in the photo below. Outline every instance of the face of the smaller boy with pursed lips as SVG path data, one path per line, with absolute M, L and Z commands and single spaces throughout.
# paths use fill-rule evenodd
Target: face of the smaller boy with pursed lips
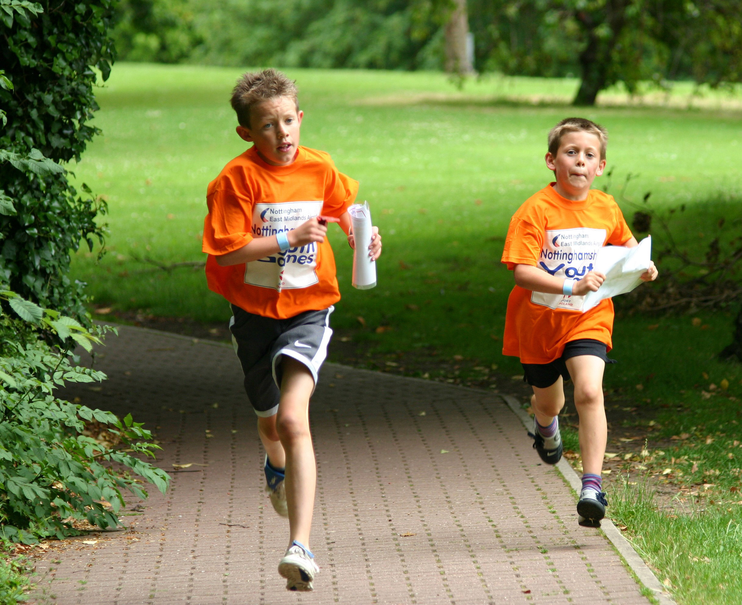
M 600 159 L 600 139 L 584 131 L 567 133 L 562 136 L 556 156 L 546 153 L 546 165 L 554 171 L 559 188 L 586 196 L 595 177 L 603 174 L 605 168 L 605 159 Z

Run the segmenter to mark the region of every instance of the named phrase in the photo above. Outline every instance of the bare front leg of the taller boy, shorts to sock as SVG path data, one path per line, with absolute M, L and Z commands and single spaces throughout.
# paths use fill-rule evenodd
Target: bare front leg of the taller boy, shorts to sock
M 276 431 L 286 452 L 286 504 L 289 507 L 289 545 L 297 540 L 309 548 L 309 531 L 315 506 L 317 467 L 309 432 L 309 396 L 314 378 L 303 363 L 284 355 L 283 380 Z

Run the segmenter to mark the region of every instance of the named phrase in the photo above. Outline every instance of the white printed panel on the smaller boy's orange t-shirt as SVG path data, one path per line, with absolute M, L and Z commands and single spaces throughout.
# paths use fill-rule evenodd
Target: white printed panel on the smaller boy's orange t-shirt
M 605 242 L 605 229 L 551 229 L 546 231 L 544 246 L 536 265 L 550 275 L 581 280 L 593 270 L 598 251 Z M 544 294 L 532 292 L 531 303 L 549 308 L 582 311 L 585 297 L 565 296 L 563 294 Z

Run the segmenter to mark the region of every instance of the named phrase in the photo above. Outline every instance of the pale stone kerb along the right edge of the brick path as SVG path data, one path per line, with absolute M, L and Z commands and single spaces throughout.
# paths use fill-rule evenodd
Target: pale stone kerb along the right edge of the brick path
M 533 419 L 525 409 L 522 409 L 518 400 L 513 397 L 513 395 L 500 394 L 499 396 L 505 400 L 505 403 L 508 404 L 508 407 L 513 411 L 513 414 L 520 418 L 523 426 L 525 426 L 527 430 L 531 430 L 533 428 Z M 559 460 L 559 463 L 557 463 L 557 469 L 562 473 L 562 477 L 565 478 L 569 486 L 579 494 L 582 489 L 582 481 L 580 480 L 580 477 L 577 476 L 577 472 L 574 471 L 570 463 L 568 463 L 565 458 L 562 458 L 562 460 Z M 657 599 L 660 605 L 677 605 L 672 596 L 669 595 L 662 583 L 657 579 L 657 576 L 654 575 L 654 572 L 649 569 L 649 566 L 644 562 L 643 558 L 639 556 L 639 553 L 634 550 L 634 546 L 631 546 L 631 542 L 623 536 L 619 529 L 614 525 L 613 521 L 608 518 L 603 519 L 600 524 L 600 529 L 603 530 L 605 538 L 608 538 L 608 540 L 611 541 L 611 544 L 613 544 L 619 555 L 621 555 L 623 560 L 626 562 L 628 569 L 631 569 L 631 571 L 634 572 L 634 575 L 636 575 L 643 586 L 646 586 L 646 588 L 651 590 L 652 596 Z

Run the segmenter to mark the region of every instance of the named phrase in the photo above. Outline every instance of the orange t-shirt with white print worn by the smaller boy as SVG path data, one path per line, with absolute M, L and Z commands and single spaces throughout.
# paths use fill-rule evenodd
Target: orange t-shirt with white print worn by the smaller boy
M 510 219 L 502 262 L 533 265 L 557 277 L 580 277 L 604 245 L 623 245 L 631 230 L 613 196 L 591 189 L 572 202 L 554 183 L 528 198 Z M 543 294 L 516 285 L 508 298 L 502 354 L 522 363 L 550 363 L 570 340 L 592 338 L 611 348 L 613 303 L 602 300 L 582 313 L 584 297 Z

